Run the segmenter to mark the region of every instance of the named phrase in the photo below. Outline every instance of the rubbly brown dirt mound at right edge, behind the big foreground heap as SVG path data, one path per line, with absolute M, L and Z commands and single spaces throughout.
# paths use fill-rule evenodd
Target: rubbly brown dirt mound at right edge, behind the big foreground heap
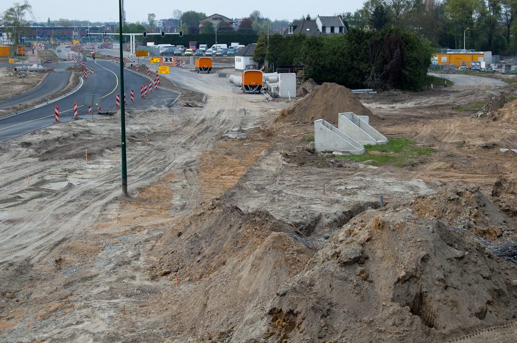
M 420 217 L 434 217 L 488 239 L 496 239 L 503 232 L 515 233 L 513 221 L 476 185 L 455 185 L 445 192 L 417 199 L 411 208 Z

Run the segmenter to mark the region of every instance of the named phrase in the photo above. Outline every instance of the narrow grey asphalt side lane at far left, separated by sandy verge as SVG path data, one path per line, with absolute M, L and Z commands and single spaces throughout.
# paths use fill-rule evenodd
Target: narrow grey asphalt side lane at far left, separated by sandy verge
M 71 71 L 50 72 L 37 87 L 20 95 L 0 101 L 0 109 L 8 109 L 18 104 L 31 103 L 64 89 L 70 81 Z

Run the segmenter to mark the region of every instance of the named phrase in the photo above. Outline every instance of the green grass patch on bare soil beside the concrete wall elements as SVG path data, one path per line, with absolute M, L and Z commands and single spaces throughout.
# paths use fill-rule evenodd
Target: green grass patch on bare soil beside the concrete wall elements
M 384 145 L 364 145 L 366 152 L 363 155 L 337 156 L 337 158 L 353 159 L 357 162 L 364 162 L 370 159 L 374 161 L 367 162 L 368 165 L 378 166 L 383 164 L 393 164 L 398 168 L 405 166 L 418 166 L 418 163 L 412 160 L 415 157 L 431 155 L 436 149 L 420 148 L 415 141 L 407 138 L 390 139 Z

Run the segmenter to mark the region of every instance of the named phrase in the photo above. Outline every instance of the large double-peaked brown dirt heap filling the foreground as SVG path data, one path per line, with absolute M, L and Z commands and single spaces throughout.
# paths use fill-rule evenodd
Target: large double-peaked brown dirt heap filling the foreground
M 467 208 L 483 199 L 458 189 Z M 514 320 L 515 266 L 428 215 L 370 209 L 315 252 L 266 211 L 212 199 L 159 240 L 151 276 L 181 288 L 156 302 L 197 341 L 442 342 Z

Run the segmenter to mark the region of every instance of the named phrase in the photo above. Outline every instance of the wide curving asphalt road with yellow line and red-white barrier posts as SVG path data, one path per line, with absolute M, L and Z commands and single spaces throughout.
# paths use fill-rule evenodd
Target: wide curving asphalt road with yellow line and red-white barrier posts
M 93 64 L 94 73 L 84 79 L 83 86 L 73 94 L 58 100 L 52 104 L 34 108 L 16 115 L 0 117 L 0 141 L 18 137 L 39 128 L 58 124 L 54 119 L 54 106 L 59 108 L 59 121 L 68 122 L 73 120 L 73 104 L 78 104 L 78 115 L 80 118 L 92 118 L 88 115 L 88 106 L 84 106 L 84 94 L 101 95 L 101 110 L 116 111 L 115 94 L 120 91 L 119 64 L 111 61 L 88 59 L 86 67 L 89 70 Z M 130 71 L 124 73 L 124 89 L 126 90 L 126 111 L 161 108 L 172 106 L 179 94 L 166 89 L 158 88 L 153 90 L 145 99 L 140 97 L 140 86 L 149 83 L 149 78 Z M 130 89 L 134 89 L 135 102 L 130 103 Z M 25 93 L 26 94 L 26 93 Z M 97 113 L 93 108 L 93 113 Z M 94 117 L 99 117 L 95 115 Z

